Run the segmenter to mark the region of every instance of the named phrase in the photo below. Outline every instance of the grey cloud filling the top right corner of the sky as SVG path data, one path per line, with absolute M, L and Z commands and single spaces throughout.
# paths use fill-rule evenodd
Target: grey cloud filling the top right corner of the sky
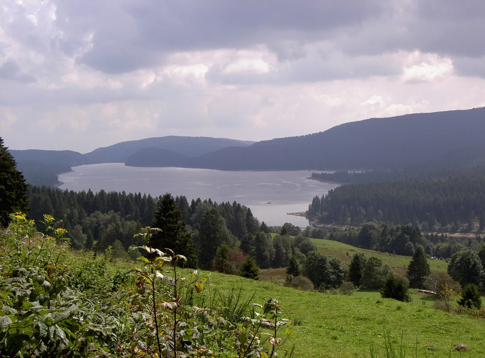
M 485 54 L 485 2 L 477 0 L 395 1 L 377 21 L 335 34 L 350 55 L 387 51 L 438 53 L 451 57 Z

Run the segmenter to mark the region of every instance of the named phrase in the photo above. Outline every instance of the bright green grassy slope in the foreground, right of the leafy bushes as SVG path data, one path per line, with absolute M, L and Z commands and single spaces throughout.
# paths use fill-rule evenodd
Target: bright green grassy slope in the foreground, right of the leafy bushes
M 434 344 L 437 350 L 428 357 L 448 357 L 452 344 L 462 342 L 472 348 L 471 357 L 485 356 L 484 322 L 465 315 L 444 313 L 416 303 L 402 303 L 373 297 L 330 295 L 299 291 L 271 282 L 258 282 L 238 276 L 212 274 L 212 284 L 219 289 L 241 287 L 243 295 L 262 303 L 267 297 L 280 301 L 287 318 L 302 320 L 294 326 L 296 357 L 368 357 L 370 344 L 383 349 L 384 326 L 395 343 L 404 335 L 406 357 L 411 357 L 418 339 L 419 357 L 424 346 Z M 431 355 L 434 354 L 434 355 Z M 458 353 L 452 353 L 452 357 Z M 467 354 L 468 357 L 468 354 Z

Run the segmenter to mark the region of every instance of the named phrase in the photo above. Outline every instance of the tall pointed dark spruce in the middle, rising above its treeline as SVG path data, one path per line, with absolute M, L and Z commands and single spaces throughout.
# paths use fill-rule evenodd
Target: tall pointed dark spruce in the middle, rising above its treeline
M 187 231 L 186 223 L 182 220 L 182 211 L 178 209 L 174 197 L 166 193 L 162 196 L 157 210 L 153 213 L 153 227 L 162 229 L 154 235 L 152 244 L 163 251 L 172 250 L 177 255 L 187 258 L 185 267 L 197 267 L 197 255 L 192 235 Z

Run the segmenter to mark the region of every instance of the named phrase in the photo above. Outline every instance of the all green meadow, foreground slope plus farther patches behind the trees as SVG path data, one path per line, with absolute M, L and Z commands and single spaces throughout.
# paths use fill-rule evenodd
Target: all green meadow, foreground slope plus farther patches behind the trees
M 349 264 L 352 255 L 363 252 L 378 256 L 396 273 L 404 274 L 410 257 L 359 249 L 338 241 L 312 239 L 318 251 L 336 256 Z M 347 255 L 347 252 L 349 255 Z M 446 270 L 447 263 L 429 260 L 433 270 Z M 118 266 L 119 265 L 119 266 Z M 117 267 L 129 267 L 119 262 Z M 202 271 L 209 274 L 208 271 Z M 285 268 L 261 270 L 260 281 L 239 276 L 210 273 L 210 288 L 229 292 L 241 289 L 242 297 L 263 303 L 277 298 L 283 317 L 296 322 L 287 348 L 295 344 L 294 357 L 377 357 L 385 356 L 385 329 L 390 342 L 399 349 L 401 337 L 405 355 L 396 357 L 485 357 L 485 324 L 468 315 L 445 313 L 432 308 L 433 297 L 411 290 L 413 302 L 404 303 L 380 298 L 375 290 L 359 289 L 352 296 L 308 292 L 285 287 Z M 209 288 L 206 286 L 206 289 Z M 422 305 L 422 301 L 425 305 Z M 467 352 L 451 350 L 456 343 L 468 344 Z M 427 345 L 436 346 L 428 349 Z M 280 354 L 281 356 L 281 354 Z M 376 357 L 376 356 L 374 356 Z

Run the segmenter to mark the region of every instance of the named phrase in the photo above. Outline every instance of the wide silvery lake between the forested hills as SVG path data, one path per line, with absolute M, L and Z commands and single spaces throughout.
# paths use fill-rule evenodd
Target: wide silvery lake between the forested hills
M 237 202 L 251 208 L 259 221 L 268 225 L 291 223 L 308 225 L 301 216 L 287 215 L 301 212 L 315 195 L 326 194 L 338 186 L 307 179 L 310 171 L 221 171 L 193 168 L 141 168 L 123 163 L 90 164 L 72 168 L 61 174 L 60 189 L 74 191 L 91 189 L 98 192 L 141 192 L 159 196 L 170 193 L 192 198 L 211 198 L 213 201 Z

